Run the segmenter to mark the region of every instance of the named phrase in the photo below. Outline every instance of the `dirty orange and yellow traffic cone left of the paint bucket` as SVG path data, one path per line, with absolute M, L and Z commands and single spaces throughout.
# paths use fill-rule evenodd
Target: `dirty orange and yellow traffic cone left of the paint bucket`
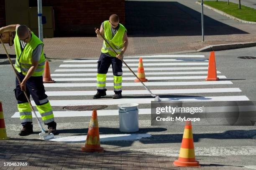
M 97 110 L 92 111 L 92 117 L 88 128 L 85 146 L 81 148 L 82 152 L 103 152 L 100 147 L 99 124 L 97 119 Z

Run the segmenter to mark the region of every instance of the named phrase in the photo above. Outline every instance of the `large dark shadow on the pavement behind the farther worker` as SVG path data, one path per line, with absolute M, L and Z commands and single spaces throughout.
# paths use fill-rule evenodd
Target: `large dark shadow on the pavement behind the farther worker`
M 204 21 L 205 35 L 248 33 L 207 16 Z M 129 37 L 202 35 L 201 13 L 179 2 L 125 1 L 125 27 Z

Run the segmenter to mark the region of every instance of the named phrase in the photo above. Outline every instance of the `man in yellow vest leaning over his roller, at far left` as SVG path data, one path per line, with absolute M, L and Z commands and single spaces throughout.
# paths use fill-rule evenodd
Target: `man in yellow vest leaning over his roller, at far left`
M 45 125 L 48 125 L 48 133 L 58 134 L 54 114 L 45 94 L 43 85 L 44 73 L 44 43 L 26 25 L 8 25 L 0 28 L 0 35 L 4 31 L 16 31 L 14 46 L 16 53 L 15 70 L 18 72 L 21 83 L 16 78 L 15 97 L 18 101 L 18 110 L 23 128 L 20 136 L 33 133 L 31 107 L 24 95 L 31 95 L 36 108 L 40 112 Z

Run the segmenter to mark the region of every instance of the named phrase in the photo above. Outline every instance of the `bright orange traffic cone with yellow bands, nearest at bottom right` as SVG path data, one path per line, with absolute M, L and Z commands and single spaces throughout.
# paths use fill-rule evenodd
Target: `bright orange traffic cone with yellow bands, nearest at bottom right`
M 179 151 L 179 159 L 174 161 L 174 166 L 200 167 L 195 160 L 194 141 L 191 121 L 187 121 L 182 138 L 182 145 Z

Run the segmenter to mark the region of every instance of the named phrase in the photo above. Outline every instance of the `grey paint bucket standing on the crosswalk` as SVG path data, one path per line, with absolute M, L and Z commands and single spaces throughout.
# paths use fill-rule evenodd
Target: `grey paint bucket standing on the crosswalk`
M 138 104 L 121 104 L 118 107 L 120 132 L 138 131 Z

